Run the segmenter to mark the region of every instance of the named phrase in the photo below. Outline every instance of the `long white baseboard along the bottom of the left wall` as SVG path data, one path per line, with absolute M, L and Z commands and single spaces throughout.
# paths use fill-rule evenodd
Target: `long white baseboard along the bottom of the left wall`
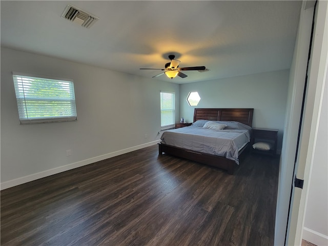
M 65 171 L 68 171 L 68 170 L 71 170 L 71 169 L 74 169 L 74 168 L 83 167 L 83 166 L 89 165 L 91 163 L 100 161 L 100 160 L 105 160 L 105 159 L 108 159 L 108 158 L 111 158 L 111 157 L 114 157 L 114 156 L 129 153 L 131 151 L 135 151 L 135 150 L 139 150 L 139 149 L 142 149 L 142 148 L 145 148 L 145 147 L 156 145 L 156 144 L 158 144 L 158 142 L 160 142 L 160 140 L 147 142 L 146 144 L 134 146 L 134 147 L 131 147 L 131 148 L 115 151 L 115 152 L 104 154 L 104 155 L 99 155 L 99 156 L 96 156 L 96 157 L 92 157 L 90 159 L 77 161 L 77 162 L 74 162 L 74 163 L 71 163 L 71 164 L 68 164 L 68 165 L 65 165 L 65 166 L 61 166 L 61 167 L 58 167 L 58 168 L 53 168 L 53 169 L 49 169 L 49 170 L 46 170 L 46 171 L 43 171 L 43 172 L 34 173 L 34 174 L 31 174 L 31 175 L 28 175 L 28 176 L 8 180 L 8 181 L 2 182 L 0 184 L 0 190 L 5 190 L 5 189 L 10 188 L 10 187 L 22 185 L 22 183 L 27 183 L 27 182 L 30 182 L 30 181 L 33 181 L 33 180 L 36 180 L 36 179 L 39 179 L 39 178 L 44 178 L 44 177 L 54 175 L 54 174 L 57 174 L 57 173 L 61 173 L 61 172 L 65 172 Z

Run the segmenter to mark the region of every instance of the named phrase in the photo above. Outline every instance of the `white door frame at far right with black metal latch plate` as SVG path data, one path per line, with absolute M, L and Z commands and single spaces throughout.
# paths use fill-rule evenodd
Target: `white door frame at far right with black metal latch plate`
M 308 85 L 306 87 L 302 127 L 295 166 L 295 174 L 297 178 L 304 179 L 304 185 L 303 189 L 292 188 L 291 213 L 289 214 L 286 245 L 301 245 L 310 171 L 314 158 L 328 66 L 327 6 L 327 1 L 318 1 L 316 6 L 311 59 L 308 69 Z M 326 153 L 322 154 L 326 155 Z

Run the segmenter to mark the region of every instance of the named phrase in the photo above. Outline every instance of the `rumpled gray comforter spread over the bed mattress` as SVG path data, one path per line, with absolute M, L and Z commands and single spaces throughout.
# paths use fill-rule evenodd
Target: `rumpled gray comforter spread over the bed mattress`
M 166 145 L 224 156 L 239 164 L 238 151 L 250 141 L 250 130 L 190 126 L 163 132 L 161 140 Z

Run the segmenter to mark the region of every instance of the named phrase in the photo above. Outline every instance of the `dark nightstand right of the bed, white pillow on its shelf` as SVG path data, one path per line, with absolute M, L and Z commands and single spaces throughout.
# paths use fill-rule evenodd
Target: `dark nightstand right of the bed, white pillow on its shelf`
M 262 153 L 262 154 L 277 154 L 277 143 L 278 143 L 278 131 L 276 129 L 264 129 L 264 128 L 253 128 L 252 129 L 252 137 L 251 137 L 251 149 L 254 153 Z M 259 150 L 254 149 L 253 145 L 256 142 L 266 142 L 272 145 L 270 150 Z

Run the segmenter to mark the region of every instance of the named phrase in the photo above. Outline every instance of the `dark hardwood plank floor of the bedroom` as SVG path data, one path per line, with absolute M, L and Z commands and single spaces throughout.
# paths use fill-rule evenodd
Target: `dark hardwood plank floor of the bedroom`
M 1 191 L 1 245 L 273 245 L 278 166 L 147 147 Z

